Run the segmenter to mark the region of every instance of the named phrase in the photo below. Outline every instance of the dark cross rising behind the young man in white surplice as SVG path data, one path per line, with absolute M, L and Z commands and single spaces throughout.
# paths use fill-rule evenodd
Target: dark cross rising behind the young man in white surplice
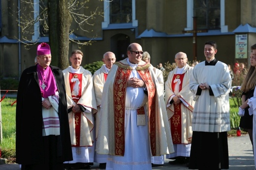
M 197 25 L 196 25 L 196 17 L 193 17 L 193 30 L 183 30 L 182 33 L 193 33 L 193 60 L 196 61 L 196 49 L 197 49 L 197 33 L 198 32 L 207 32 L 207 29 L 201 29 L 197 30 Z

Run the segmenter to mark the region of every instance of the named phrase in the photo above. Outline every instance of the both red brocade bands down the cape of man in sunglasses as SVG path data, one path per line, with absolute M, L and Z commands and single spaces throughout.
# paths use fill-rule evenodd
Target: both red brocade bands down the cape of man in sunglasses
M 156 155 L 156 87 L 149 70 L 137 70 L 148 89 L 150 144 L 153 155 Z M 118 67 L 114 81 L 114 129 L 115 129 L 115 155 L 125 154 L 125 102 L 127 81 L 131 70 Z M 142 107 L 143 108 L 143 107 Z M 137 112 L 140 113 L 141 110 Z

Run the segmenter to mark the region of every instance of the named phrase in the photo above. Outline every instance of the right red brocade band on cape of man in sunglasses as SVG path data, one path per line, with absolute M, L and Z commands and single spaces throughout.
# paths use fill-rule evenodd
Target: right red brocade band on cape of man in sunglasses
M 154 156 L 156 155 L 156 86 L 148 69 L 142 70 L 138 68 L 137 71 L 148 89 L 150 147 L 152 155 Z

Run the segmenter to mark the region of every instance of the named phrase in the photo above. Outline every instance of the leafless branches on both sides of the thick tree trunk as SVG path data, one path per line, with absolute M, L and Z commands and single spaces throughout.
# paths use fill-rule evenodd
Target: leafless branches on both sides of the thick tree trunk
M 67 1 L 67 10 L 71 15 L 72 24 L 77 25 L 75 29 L 69 29 L 69 35 L 78 29 L 80 29 L 80 31 L 92 32 L 93 30 L 87 29 L 88 27 L 86 26 L 94 26 L 93 19 L 95 19 L 96 16 L 103 17 L 103 12 L 99 11 L 98 7 L 95 9 L 89 8 L 89 1 L 90 0 Z M 20 0 L 20 9 L 18 11 L 19 17 L 17 18 L 17 22 L 21 28 L 21 42 L 27 45 L 32 45 L 37 43 L 40 37 L 48 36 L 50 28 L 48 23 L 48 8 L 50 7 L 50 0 Z M 79 45 L 89 45 L 92 43 L 92 40 L 86 42 L 80 42 L 79 40 L 71 38 L 69 38 L 69 40 Z

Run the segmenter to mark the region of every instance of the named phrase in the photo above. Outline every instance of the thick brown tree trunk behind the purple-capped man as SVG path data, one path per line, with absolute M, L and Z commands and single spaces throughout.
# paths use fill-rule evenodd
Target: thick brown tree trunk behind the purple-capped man
M 68 67 L 69 28 L 72 18 L 67 0 L 48 0 L 49 42 L 52 65 L 61 69 Z

